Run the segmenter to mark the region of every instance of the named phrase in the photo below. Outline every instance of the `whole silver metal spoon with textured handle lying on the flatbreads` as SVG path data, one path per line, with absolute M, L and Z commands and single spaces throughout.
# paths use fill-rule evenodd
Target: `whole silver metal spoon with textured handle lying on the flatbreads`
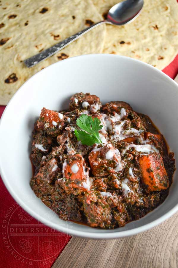
M 99 21 L 80 32 L 77 32 L 75 35 L 72 35 L 69 38 L 64 39 L 62 42 L 57 43 L 54 46 L 51 46 L 50 48 L 43 50 L 39 54 L 36 54 L 24 60 L 24 63 L 27 67 L 32 67 L 36 65 L 42 60 L 45 60 L 48 57 L 52 56 L 53 54 L 57 53 L 59 50 L 63 49 L 65 46 L 69 45 L 74 40 L 78 39 L 80 36 L 84 35 L 86 32 L 89 32 L 91 29 L 95 28 L 100 24 L 107 23 L 114 25 L 123 25 L 130 23 L 139 15 L 139 13 L 142 10 L 142 7 L 143 7 L 143 0 L 126 0 L 118 4 L 115 4 L 109 10 L 106 20 Z

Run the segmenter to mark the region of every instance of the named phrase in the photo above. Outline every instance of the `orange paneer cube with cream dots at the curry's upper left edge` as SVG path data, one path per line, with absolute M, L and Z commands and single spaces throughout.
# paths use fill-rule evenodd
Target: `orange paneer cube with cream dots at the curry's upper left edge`
M 46 130 L 47 134 L 57 134 L 63 129 L 67 117 L 53 110 L 43 108 L 38 119 L 38 128 Z

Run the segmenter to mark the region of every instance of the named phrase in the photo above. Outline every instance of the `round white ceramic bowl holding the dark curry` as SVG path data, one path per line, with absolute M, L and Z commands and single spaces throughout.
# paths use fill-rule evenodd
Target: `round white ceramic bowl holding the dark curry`
M 169 196 L 142 219 L 114 230 L 62 221 L 30 188 L 31 132 L 42 107 L 65 109 L 76 92 L 90 92 L 105 103 L 122 100 L 150 116 L 178 158 L 178 85 L 156 68 L 128 57 L 96 54 L 69 58 L 31 77 L 7 105 L 0 121 L 0 172 L 14 199 L 29 214 L 65 233 L 93 239 L 115 239 L 148 230 L 178 210 L 178 180 Z

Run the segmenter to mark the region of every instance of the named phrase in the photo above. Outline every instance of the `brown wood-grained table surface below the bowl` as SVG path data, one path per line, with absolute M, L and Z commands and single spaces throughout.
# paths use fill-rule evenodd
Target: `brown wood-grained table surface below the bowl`
M 178 83 L 178 75 L 174 80 Z M 178 213 L 151 230 L 126 238 L 88 240 L 73 236 L 52 266 L 68 267 L 177 268 Z

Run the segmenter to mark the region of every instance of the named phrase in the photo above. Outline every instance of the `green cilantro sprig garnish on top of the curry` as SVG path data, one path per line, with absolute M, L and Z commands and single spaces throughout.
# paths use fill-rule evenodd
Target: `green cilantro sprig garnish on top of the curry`
M 95 143 L 102 144 L 98 131 L 102 129 L 103 125 L 97 117 L 92 118 L 91 116 L 82 114 L 77 119 L 76 124 L 82 129 L 74 131 L 78 141 L 88 146 Z

